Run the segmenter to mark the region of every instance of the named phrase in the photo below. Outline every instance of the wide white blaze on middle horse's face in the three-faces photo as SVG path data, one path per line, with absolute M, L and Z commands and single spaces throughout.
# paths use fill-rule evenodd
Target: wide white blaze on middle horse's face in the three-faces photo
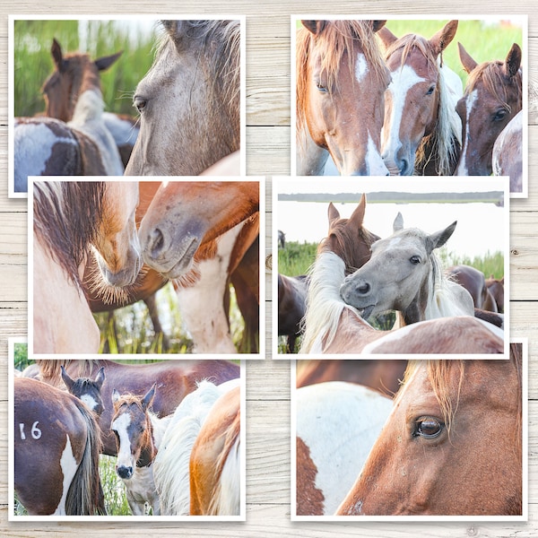
M 400 126 L 402 126 L 402 115 L 404 113 L 405 100 L 407 94 L 415 84 L 424 82 L 426 79 L 415 73 L 409 65 L 403 65 L 391 72 L 392 81 L 386 91 L 390 93 L 392 99 L 392 110 L 388 119 L 388 125 L 383 126 L 383 133 L 386 131 L 388 136 L 383 143 L 382 152 L 392 161 L 395 160 L 395 154 L 400 149 Z M 413 158 L 414 161 L 414 158 Z

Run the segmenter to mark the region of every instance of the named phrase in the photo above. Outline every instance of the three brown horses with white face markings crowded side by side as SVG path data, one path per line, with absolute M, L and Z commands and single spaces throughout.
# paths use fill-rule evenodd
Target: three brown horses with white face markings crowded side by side
M 301 23 L 298 175 L 323 175 L 330 155 L 343 176 L 493 172 L 509 175 L 510 191 L 521 191 L 522 51 L 516 43 L 504 59 L 481 64 L 458 43 L 468 74 L 463 88 L 443 58 L 458 21 L 431 38 L 398 38 L 386 21 Z

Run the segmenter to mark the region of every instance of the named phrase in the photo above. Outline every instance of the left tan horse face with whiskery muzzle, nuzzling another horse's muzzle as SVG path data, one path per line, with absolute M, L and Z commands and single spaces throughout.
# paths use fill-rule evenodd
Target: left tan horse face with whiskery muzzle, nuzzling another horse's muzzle
M 100 272 L 111 286 L 124 287 L 134 283 L 142 267 L 134 221 L 138 199 L 138 183 L 107 183 L 100 234 L 93 247 Z

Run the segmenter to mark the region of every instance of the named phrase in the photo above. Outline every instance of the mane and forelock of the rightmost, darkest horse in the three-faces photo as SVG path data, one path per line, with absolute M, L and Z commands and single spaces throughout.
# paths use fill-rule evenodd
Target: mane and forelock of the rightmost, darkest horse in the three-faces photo
M 486 91 L 491 93 L 502 106 L 512 112 L 512 107 L 508 104 L 508 88 L 516 90 L 516 100 L 519 108 L 522 106 L 522 77 L 521 69 L 511 78 L 504 74 L 504 62 L 494 60 L 492 62 L 482 62 L 477 65 L 467 78 L 465 90 L 471 92 L 480 81 L 483 82 Z

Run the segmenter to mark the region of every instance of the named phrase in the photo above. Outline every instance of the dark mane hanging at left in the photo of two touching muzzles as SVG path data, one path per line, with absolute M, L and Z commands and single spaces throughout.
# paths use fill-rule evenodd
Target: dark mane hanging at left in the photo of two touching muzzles
M 98 236 L 105 190 L 103 181 L 34 183 L 35 238 L 84 296 L 78 271 Z

